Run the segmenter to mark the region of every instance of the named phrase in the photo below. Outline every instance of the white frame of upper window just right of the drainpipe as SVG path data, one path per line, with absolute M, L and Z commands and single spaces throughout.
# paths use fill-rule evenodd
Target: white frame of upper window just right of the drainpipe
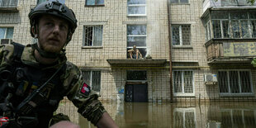
M 179 33 L 179 45 L 173 45 L 173 26 L 178 26 L 178 33 Z M 183 45 L 183 27 L 182 26 L 189 26 L 189 45 Z M 191 24 L 173 24 L 171 25 L 171 29 L 172 29 L 172 45 L 173 46 L 192 46 L 192 34 L 191 34 Z

